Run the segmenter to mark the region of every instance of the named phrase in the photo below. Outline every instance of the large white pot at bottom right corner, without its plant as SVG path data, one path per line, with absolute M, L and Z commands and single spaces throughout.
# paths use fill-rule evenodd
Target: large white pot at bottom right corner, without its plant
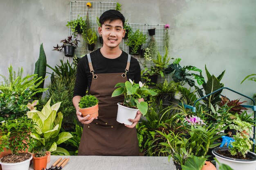
M 219 148 L 214 148 L 212 150 L 213 155 L 216 159 L 223 164 L 230 166 L 233 170 L 256 170 L 256 159 L 250 160 L 242 160 L 242 159 L 229 159 L 228 157 L 223 157 L 222 155 L 216 153 L 216 150 Z M 223 148 L 224 149 L 224 148 Z M 248 152 L 248 154 L 255 156 L 256 154 L 253 152 Z M 216 168 L 219 170 L 219 164 L 216 162 Z

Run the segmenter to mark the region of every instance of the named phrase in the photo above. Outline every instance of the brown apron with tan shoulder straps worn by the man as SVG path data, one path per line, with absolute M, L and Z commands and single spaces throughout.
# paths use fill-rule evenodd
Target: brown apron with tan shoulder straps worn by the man
M 117 122 L 117 103 L 124 96 L 111 97 L 117 83 L 126 82 L 130 55 L 125 73 L 94 74 L 90 54 L 87 54 L 92 84 L 89 94 L 99 100 L 99 116 L 83 125 L 78 155 L 139 156 L 136 128 L 127 128 Z

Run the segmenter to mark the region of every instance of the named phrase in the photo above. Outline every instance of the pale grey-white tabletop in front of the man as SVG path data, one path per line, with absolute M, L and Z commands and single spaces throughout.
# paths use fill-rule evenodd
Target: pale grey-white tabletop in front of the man
M 168 157 L 54 156 L 47 168 L 58 158 L 70 158 L 63 170 L 175 170 Z M 29 167 L 33 170 L 33 164 Z

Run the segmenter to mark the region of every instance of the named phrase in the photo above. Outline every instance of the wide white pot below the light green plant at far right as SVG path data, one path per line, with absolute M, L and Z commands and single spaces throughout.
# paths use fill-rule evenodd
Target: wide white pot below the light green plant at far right
M 231 157 L 226 157 L 220 152 L 227 152 L 229 148 L 227 147 L 218 147 L 213 149 L 212 153 L 216 157 L 216 159 L 219 161 L 219 163 L 226 164 L 230 166 L 233 170 L 255 170 L 256 169 L 256 154 L 253 152 L 248 152 L 246 154 L 246 157 L 248 157 L 248 160 L 246 159 L 235 159 Z M 220 152 L 219 152 L 220 151 Z M 219 169 L 219 164 L 216 162 L 216 168 Z

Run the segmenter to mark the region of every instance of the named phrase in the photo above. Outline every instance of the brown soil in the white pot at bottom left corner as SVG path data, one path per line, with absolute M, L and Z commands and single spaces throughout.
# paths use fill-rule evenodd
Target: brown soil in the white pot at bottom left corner
M 1 158 L 3 163 L 18 163 L 22 161 L 26 161 L 31 157 L 30 153 L 18 153 L 18 154 L 7 154 L 6 156 Z

